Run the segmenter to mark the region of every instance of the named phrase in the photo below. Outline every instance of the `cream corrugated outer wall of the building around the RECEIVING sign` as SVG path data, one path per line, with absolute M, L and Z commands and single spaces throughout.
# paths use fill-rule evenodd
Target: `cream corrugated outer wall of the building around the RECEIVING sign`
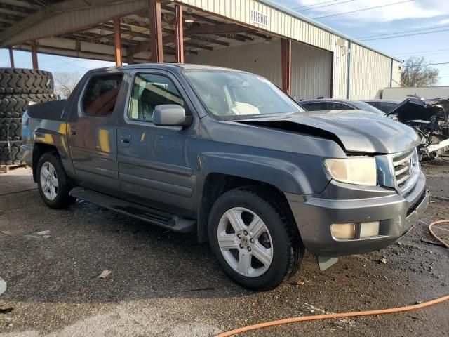
M 231 20 L 243 22 L 246 25 L 260 27 L 274 34 L 332 51 L 334 53 L 332 97 L 347 98 L 348 52 L 344 48 L 335 45 L 336 39 L 339 38 L 336 35 L 337 33 L 328 32 L 326 29 L 316 27 L 291 14 L 284 13 L 272 6 L 262 4 L 260 1 L 255 0 L 177 0 L 177 2 L 201 8 L 202 11 L 222 15 Z M 251 22 L 251 10 L 268 15 L 268 27 Z M 344 39 L 344 42 L 347 46 L 347 39 Z M 363 99 L 379 97 L 380 90 L 386 86 L 390 86 L 391 74 L 394 79 L 393 86 L 395 86 L 395 81 L 399 83 L 401 74 L 396 70 L 400 62 L 394 60 L 393 63 L 394 71 L 391 72 L 391 58 L 355 42 L 352 43 L 349 98 Z

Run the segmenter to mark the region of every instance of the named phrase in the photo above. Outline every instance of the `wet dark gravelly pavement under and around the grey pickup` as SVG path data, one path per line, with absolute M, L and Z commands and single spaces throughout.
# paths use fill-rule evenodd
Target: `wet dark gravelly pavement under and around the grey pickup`
M 449 162 L 422 167 L 431 193 L 449 197 Z M 8 284 L 0 296 L 0 336 L 211 336 L 273 319 L 415 304 L 449 293 L 449 251 L 431 244 L 427 231 L 441 219 L 449 219 L 449 201 L 434 198 L 422 222 L 387 249 L 341 258 L 325 272 L 307 254 L 293 279 L 256 293 L 231 282 L 195 234 L 86 202 L 48 209 L 29 169 L 18 169 L 0 175 L 0 277 Z M 111 270 L 109 277 L 96 277 L 103 270 Z M 446 302 L 245 336 L 448 334 Z

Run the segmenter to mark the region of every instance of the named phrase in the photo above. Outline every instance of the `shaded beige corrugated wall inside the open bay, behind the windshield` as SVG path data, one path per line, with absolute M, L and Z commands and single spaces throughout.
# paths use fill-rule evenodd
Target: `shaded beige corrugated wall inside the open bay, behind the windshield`
M 332 95 L 333 54 L 319 48 L 293 42 L 292 96 L 297 99 Z M 267 43 L 244 44 L 214 51 L 187 55 L 186 61 L 200 65 L 229 67 L 260 74 L 281 87 L 281 44 L 279 39 Z

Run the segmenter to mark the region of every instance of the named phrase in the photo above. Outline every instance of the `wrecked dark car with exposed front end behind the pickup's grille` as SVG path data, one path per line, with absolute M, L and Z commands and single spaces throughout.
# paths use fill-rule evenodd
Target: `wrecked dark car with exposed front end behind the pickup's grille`
M 449 100 L 413 97 L 403 100 L 387 113 L 417 132 L 420 160 L 431 160 L 449 150 Z

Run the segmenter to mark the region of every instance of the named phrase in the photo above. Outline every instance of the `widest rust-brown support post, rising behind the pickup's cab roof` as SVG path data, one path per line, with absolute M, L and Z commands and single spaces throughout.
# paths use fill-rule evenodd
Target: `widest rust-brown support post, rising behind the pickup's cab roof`
M 162 63 L 162 14 L 160 0 L 149 0 L 149 39 L 152 62 Z

